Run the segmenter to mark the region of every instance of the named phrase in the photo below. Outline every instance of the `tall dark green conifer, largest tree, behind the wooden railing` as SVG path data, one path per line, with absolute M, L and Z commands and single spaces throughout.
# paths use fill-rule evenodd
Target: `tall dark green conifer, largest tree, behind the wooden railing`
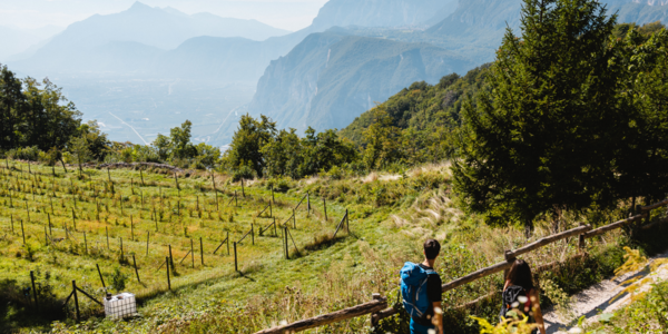
M 465 104 L 454 186 L 489 223 L 615 202 L 613 160 L 629 119 L 611 61 L 616 17 L 595 0 L 524 0 L 487 81 Z

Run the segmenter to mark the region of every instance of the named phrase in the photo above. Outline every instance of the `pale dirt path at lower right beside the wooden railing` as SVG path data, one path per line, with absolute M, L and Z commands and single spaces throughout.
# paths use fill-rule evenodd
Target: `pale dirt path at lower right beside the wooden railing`
M 652 259 L 667 257 L 668 252 L 665 252 L 652 257 Z M 647 273 L 629 274 L 621 277 L 619 281 L 606 279 L 576 295 L 572 305 L 572 311 L 577 315 L 574 318 L 577 320 L 582 315 L 586 315 L 587 322 L 595 322 L 598 321 L 599 314 L 612 313 L 615 310 L 627 305 L 630 298 L 628 294 L 625 294 L 620 298 L 615 297 L 622 291 L 622 288 L 619 286 L 619 283 L 630 278 L 631 276 L 645 277 L 647 276 Z M 655 281 L 668 279 L 668 265 L 661 266 L 654 276 Z M 642 286 L 642 289 L 649 288 L 649 284 Z M 548 334 L 567 333 L 568 330 L 571 328 L 571 326 L 568 325 L 569 322 L 562 320 L 557 312 L 551 308 L 546 310 L 543 317 Z

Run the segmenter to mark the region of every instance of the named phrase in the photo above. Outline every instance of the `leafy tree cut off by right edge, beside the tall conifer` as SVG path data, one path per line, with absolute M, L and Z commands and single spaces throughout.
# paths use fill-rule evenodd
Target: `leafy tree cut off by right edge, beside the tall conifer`
M 616 61 L 628 69 L 621 98 L 631 120 L 616 159 L 619 197 L 665 198 L 668 193 L 668 32 L 661 29 L 648 35 L 647 30 L 631 29 L 620 45 L 623 52 Z

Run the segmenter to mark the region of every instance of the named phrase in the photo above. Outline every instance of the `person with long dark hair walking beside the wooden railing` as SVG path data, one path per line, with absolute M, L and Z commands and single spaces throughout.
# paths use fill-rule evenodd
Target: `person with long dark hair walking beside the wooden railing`
M 530 323 L 536 323 L 541 334 L 546 334 L 546 325 L 540 310 L 540 294 L 533 286 L 531 267 L 523 259 L 515 259 L 510 267 L 502 298 L 501 318 L 505 317 L 508 312 L 517 311 L 528 316 Z

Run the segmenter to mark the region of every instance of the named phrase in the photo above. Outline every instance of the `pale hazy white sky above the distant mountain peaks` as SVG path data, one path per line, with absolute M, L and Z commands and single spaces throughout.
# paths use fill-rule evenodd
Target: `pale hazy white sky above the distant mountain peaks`
M 327 0 L 141 0 L 151 7 L 173 7 L 185 13 L 207 11 L 220 17 L 256 19 L 287 30 L 311 24 Z M 128 9 L 135 0 L 0 0 L 0 26 L 39 28 L 84 20 L 92 14 Z

